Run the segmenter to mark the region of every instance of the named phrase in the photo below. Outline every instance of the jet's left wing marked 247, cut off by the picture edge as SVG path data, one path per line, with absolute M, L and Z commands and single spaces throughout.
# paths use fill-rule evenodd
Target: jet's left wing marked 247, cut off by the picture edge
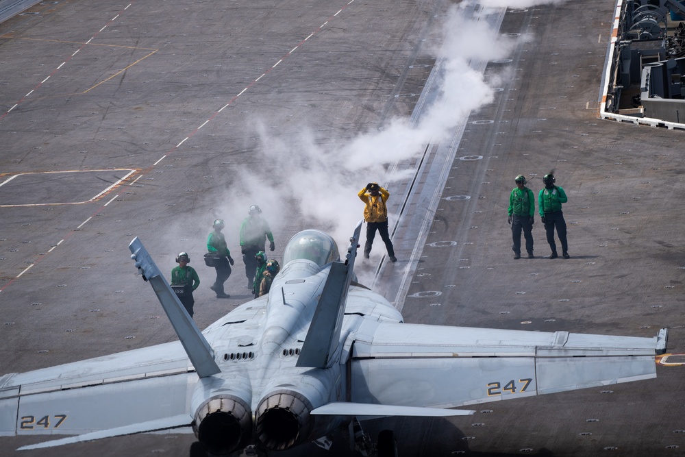
M 188 402 L 197 380 L 179 342 L 9 373 L 0 377 L 0 436 L 190 425 Z

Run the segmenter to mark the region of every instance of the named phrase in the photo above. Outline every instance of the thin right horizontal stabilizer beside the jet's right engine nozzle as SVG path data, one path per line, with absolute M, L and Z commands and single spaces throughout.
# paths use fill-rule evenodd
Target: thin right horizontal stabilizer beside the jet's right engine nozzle
M 335 416 L 415 416 L 448 417 L 468 416 L 472 410 L 448 410 L 443 408 L 419 408 L 416 406 L 377 405 L 369 403 L 329 403 L 310 412 L 312 415 Z

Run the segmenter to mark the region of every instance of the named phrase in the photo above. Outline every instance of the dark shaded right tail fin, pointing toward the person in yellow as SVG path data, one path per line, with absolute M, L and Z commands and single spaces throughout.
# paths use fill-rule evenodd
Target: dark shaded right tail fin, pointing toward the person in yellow
M 350 244 L 347 247 L 345 262 L 333 262 L 331 265 L 328 279 L 323 286 L 319 304 L 314 311 L 314 317 L 297 360 L 298 367 L 326 368 L 332 362 L 331 356 L 338 349 L 347 291 L 354 275 L 354 260 L 357 256 L 362 222 L 357 223 L 352 237 L 349 238 Z

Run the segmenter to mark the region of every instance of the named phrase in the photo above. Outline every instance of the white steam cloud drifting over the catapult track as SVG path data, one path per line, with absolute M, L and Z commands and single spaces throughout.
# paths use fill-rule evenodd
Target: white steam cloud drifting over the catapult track
M 495 1 L 484 4 L 497 6 Z M 220 208 L 225 214 L 240 217 L 233 223 L 227 220 L 227 230 L 237 232 L 249 205 L 258 204 L 277 236 L 277 246 L 283 247 L 292 235 L 282 232 L 286 225 L 292 226 L 294 218 L 300 218 L 294 224 L 298 230 L 326 230 L 343 250 L 354 225 L 362 218 L 364 205 L 357 193 L 366 183 L 379 182 L 387 188 L 392 207 L 393 199 L 401 197 L 399 183 L 413 173 L 394 165 L 419 156 L 429 141 L 447 140 L 469 113 L 493 101 L 493 90 L 484 75 L 469 63 L 506 58 L 512 51 L 512 40 L 499 36 L 486 21 L 466 17 L 463 8 L 450 8 L 443 25 L 443 45 L 433 50 L 443 67 L 440 96 L 424 111 L 417 125 L 410 125 L 409 119 L 392 119 L 384 129 L 363 132 L 337 149 L 321 147 L 311 132 L 303 132 L 299 138 L 288 137 L 286 143 L 258 127 L 262 138 L 260 161 L 268 165 L 263 175 L 247 170 L 236 173 L 240 176 L 240 190 Z M 264 175 L 269 176 L 268 182 Z M 363 238 L 362 234 L 362 245 Z M 373 254 L 385 254 L 379 237 Z

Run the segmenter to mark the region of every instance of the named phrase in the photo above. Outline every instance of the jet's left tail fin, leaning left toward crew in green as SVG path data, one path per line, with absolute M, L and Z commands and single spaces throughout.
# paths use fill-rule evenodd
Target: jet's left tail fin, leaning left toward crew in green
M 171 290 L 171 286 L 166 282 L 162 272 L 150 257 L 150 254 L 136 238 L 129 244 L 131 258 L 136 261 L 136 267 L 142 274 L 142 279 L 149 281 L 157 298 L 169 317 L 173 329 L 176 331 L 179 340 L 186 354 L 190 358 L 192 366 L 195 367 L 200 378 L 206 378 L 216 373 L 221 373 L 221 369 L 214 361 L 214 351 L 200 332 L 195 322 L 192 321 L 190 314 L 181 304 L 176 294 Z

